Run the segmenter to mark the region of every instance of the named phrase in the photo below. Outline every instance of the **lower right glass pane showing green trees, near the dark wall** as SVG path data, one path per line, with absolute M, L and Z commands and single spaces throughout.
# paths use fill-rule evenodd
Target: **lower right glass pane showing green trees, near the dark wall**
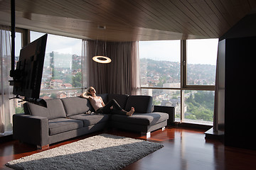
M 214 91 L 188 91 L 184 93 L 184 118 L 213 122 Z

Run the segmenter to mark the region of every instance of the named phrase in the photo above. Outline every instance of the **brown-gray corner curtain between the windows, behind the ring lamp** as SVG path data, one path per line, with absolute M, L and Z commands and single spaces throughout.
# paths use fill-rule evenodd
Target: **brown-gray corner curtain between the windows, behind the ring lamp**
M 137 94 L 139 87 L 138 42 L 107 42 L 87 40 L 86 61 L 89 86 L 94 86 L 97 94 Z M 92 57 L 105 54 L 112 62 L 100 64 Z

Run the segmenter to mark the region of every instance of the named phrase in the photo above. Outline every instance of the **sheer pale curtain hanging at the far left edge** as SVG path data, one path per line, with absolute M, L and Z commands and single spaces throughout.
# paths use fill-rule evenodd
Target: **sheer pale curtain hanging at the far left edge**
M 9 86 L 9 72 L 11 69 L 11 41 L 8 28 L 0 26 L 0 133 L 12 130 L 12 115 L 14 114 L 14 100 L 9 100 L 11 87 Z

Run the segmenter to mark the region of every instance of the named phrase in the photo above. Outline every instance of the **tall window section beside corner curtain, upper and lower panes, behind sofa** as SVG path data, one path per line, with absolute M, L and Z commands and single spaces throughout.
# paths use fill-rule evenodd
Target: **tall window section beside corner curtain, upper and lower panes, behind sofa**
M 141 41 L 139 58 L 142 94 L 181 118 L 181 40 Z

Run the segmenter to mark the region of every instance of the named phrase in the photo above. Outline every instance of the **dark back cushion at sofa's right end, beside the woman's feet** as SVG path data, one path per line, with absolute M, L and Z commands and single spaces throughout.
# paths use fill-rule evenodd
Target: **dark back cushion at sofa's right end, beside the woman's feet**
M 136 113 L 151 113 L 153 98 L 151 96 L 129 96 L 125 111 L 134 107 Z

